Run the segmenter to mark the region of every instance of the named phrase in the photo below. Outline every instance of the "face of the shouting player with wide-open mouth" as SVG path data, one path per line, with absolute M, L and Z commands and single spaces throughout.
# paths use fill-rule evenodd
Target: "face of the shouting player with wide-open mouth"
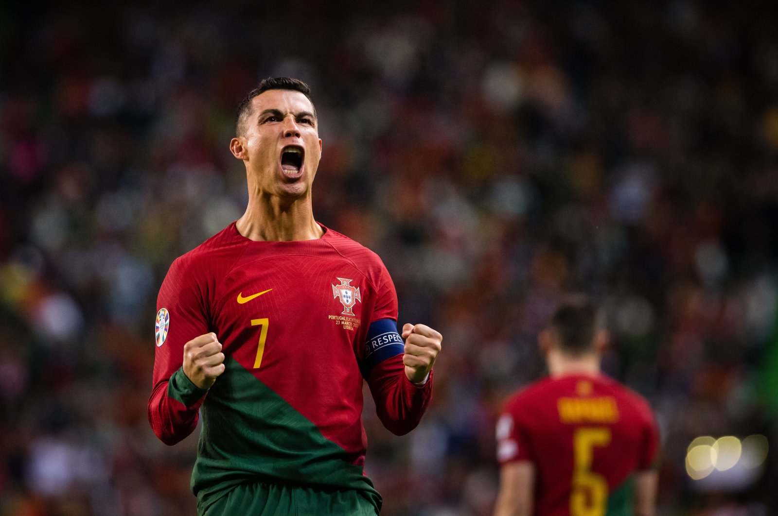
M 243 154 L 236 154 L 246 162 L 250 188 L 282 197 L 309 194 L 321 159 L 314 106 L 303 93 L 269 89 L 255 96 L 251 107 L 237 138 Z

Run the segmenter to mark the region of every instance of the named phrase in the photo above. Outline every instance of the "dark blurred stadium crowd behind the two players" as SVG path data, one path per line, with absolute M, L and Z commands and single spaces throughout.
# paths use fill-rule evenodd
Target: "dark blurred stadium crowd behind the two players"
M 0 6 L 0 514 L 194 514 L 197 432 L 146 420 L 156 293 L 242 213 L 227 143 L 272 75 L 314 91 L 317 219 L 444 336 L 412 434 L 366 400 L 383 514 L 489 514 L 569 290 L 657 412 L 659 514 L 776 514 L 774 449 L 685 469 L 701 435 L 778 443 L 774 2 L 255 3 Z

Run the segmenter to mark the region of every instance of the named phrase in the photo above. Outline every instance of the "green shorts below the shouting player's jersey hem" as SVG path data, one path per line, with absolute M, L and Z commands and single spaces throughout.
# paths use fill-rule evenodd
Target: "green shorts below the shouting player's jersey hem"
M 199 505 L 199 504 L 198 504 Z M 200 516 L 377 516 L 378 509 L 359 490 L 314 489 L 274 483 L 236 486 Z

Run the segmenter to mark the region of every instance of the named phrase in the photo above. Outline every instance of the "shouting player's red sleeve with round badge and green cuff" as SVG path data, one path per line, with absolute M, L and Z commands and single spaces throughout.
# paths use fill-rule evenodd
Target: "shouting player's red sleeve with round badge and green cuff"
M 191 270 L 181 256 L 168 270 L 157 298 L 156 351 L 149 423 L 166 445 L 174 445 L 195 430 L 204 389 L 193 384 L 181 365 L 184 344 L 209 332 L 205 300 Z

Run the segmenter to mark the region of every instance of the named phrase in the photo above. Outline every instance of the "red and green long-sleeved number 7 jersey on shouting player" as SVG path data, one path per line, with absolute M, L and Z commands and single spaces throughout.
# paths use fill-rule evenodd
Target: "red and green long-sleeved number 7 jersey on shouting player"
M 201 511 L 253 482 L 359 490 L 380 507 L 363 472 L 363 379 L 384 425 L 405 434 L 432 378 L 416 387 L 405 377 L 397 295 L 375 253 L 327 228 L 321 239 L 254 242 L 233 223 L 173 262 L 157 309 L 149 421 L 173 445 L 202 406 L 191 479 Z M 184 343 L 209 332 L 226 370 L 205 391 L 181 364 Z

